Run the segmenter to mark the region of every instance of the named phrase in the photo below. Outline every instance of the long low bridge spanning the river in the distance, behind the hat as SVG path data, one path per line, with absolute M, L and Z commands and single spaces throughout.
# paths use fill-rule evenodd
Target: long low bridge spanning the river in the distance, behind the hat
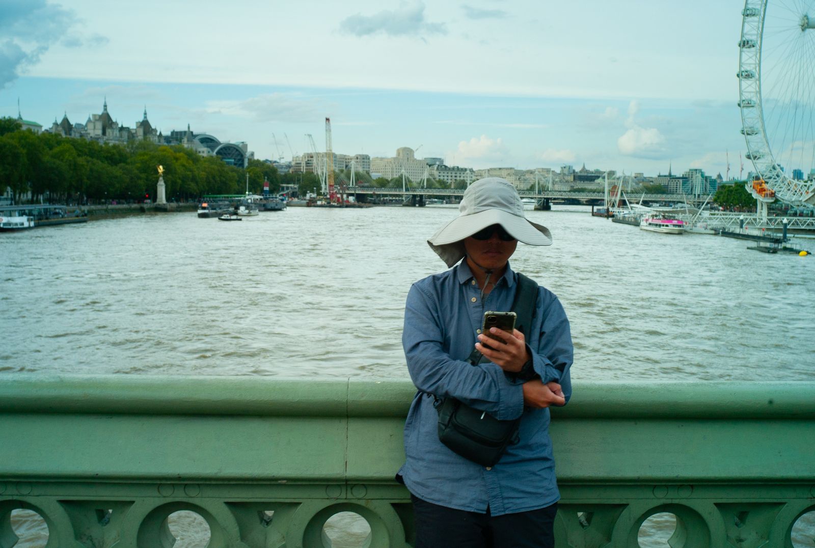
M 346 194 L 356 194 L 365 196 L 403 196 L 405 202 L 408 199 L 412 205 L 425 205 L 428 197 L 445 198 L 460 197 L 464 194 L 463 188 L 376 188 L 368 186 L 349 186 L 343 188 Z M 522 198 L 532 198 L 535 200 L 535 209 L 548 210 L 553 200 L 576 200 L 584 202 L 602 202 L 606 195 L 604 192 L 574 192 L 567 190 L 520 190 L 518 193 Z M 642 194 L 641 202 L 682 202 L 687 204 L 702 205 L 705 201 L 710 201 L 711 195 L 690 196 L 687 194 Z

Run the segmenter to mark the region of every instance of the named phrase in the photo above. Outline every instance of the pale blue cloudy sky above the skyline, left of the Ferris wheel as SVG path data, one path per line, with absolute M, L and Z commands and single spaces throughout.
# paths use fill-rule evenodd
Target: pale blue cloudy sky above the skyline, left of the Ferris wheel
M 738 176 L 738 0 L 0 0 L 0 116 L 146 108 L 259 159 Z M 747 163 L 747 161 L 744 161 Z M 745 166 L 745 172 L 750 166 Z

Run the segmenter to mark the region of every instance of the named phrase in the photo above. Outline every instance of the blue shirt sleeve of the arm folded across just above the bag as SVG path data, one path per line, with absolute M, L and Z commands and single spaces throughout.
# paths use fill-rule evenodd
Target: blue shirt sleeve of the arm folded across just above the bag
M 452 396 L 500 420 L 521 416 L 523 389 L 492 363 L 469 365 L 443 349 L 442 321 L 430 292 L 413 284 L 407 294 L 402 344 L 407 370 L 420 391 Z

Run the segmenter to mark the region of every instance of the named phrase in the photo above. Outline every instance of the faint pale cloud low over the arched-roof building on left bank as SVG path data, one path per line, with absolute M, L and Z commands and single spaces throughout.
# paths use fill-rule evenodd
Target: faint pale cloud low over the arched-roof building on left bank
M 293 93 L 270 93 L 242 100 L 209 101 L 207 113 L 220 113 L 255 122 L 314 122 L 328 109 L 313 99 Z

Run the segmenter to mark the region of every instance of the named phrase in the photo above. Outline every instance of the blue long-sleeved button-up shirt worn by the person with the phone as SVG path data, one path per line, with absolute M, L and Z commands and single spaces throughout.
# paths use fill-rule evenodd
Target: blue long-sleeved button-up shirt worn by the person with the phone
M 517 276 L 507 266 L 495 289 L 481 291 L 466 261 L 428 276 L 407 294 L 402 343 L 407 369 L 420 392 L 413 398 L 404 430 L 407 456 L 399 474 L 408 490 L 424 501 L 458 510 L 512 514 L 549 506 L 560 499 L 555 480 L 548 409 L 526 409 L 522 382 L 491 362 L 469 365 L 483 314 L 512 307 Z M 543 287 L 532 329 L 526 337 L 535 373 L 562 385 L 571 397 L 573 347 L 569 320 L 560 301 Z M 522 416 L 520 443 L 500 462 L 485 468 L 460 457 L 438 440 L 435 396 L 454 396 L 499 419 Z

